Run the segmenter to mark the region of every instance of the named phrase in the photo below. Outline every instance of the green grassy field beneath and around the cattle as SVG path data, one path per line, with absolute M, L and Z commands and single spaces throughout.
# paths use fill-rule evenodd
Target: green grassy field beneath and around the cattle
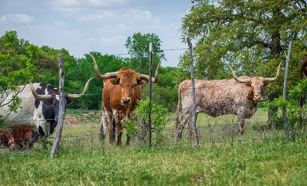
M 101 113 L 66 112 L 60 152 L 53 159 L 39 143 L 33 151 L 0 155 L 0 185 L 305 185 L 307 135 L 284 139 L 283 130 L 267 126 L 258 109 L 246 119 L 245 134 L 234 134 L 236 116 L 200 114 L 196 148 L 186 129 L 181 140 L 173 115 L 164 145 L 148 149 L 136 138 L 130 146 L 110 147 L 98 140 Z M 187 127 L 186 127 L 187 128 Z M 53 137 L 53 136 L 51 136 Z M 49 139 L 52 142 L 52 138 Z M 125 142 L 123 135 L 122 142 Z M 233 143 L 233 146 L 231 146 Z M 0 149 L 0 154 L 7 152 Z

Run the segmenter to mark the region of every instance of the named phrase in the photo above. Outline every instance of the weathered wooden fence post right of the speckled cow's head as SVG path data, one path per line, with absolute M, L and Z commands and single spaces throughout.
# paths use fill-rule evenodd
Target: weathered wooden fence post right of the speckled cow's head
M 289 69 L 289 61 L 290 61 L 290 54 L 291 54 L 291 48 L 292 48 L 292 39 L 290 39 L 289 43 L 289 49 L 288 49 L 288 55 L 287 61 L 286 61 L 286 72 L 284 73 L 284 81 L 283 81 L 283 99 L 287 98 L 287 80 L 288 80 L 288 69 Z M 282 109 L 282 116 L 283 116 L 283 123 L 284 123 L 284 132 L 287 134 L 287 139 L 290 139 L 290 132 L 289 132 L 289 125 L 287 122 L 287 113 L 286 108 Z

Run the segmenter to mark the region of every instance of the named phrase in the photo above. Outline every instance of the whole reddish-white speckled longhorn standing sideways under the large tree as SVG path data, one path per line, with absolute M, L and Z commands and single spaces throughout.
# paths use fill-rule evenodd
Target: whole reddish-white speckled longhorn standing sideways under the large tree
M 280 63 L 281 64 L 281 63 Z M 211 117 L 225 114 L 238 116 L 240 127 L 237 133 L 243 135 L 245 118 L 251 118 L 257 110 L 264 87 L 269 87 L 269 81 L 279 78 L 280 64 L 274 78 L 235 75 L 230 67 L 233 79 L 199 80 L 195 79 L 196 118 L 199 112 Z M 178 89 L 178 105 L 175 117 L 175 128 L 179 125 L 178 137 L 181 138 L 183 128 L 189 118 L 192 118 L 191 80 L 184 80 Z M 180 93 L 182 99 L 182 117 L 179 120 Z M 189 122 L 190 123 L 190 122 Z

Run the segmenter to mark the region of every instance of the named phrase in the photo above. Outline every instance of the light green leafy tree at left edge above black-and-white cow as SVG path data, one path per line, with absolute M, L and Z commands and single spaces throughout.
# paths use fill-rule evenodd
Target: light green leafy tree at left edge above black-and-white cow
M 24 41 L 19 43 L 16 31 L 6 31 L 5 35 L 0 39 L 0 95 L 1 99 L 5 99 L 12 91 L 17 91 L 20 85 L 26 85 L 33 79 L 36 70 L 35 63 L 38 60 L 39 48 L 35 45 L 26 45 L 25 51 L 18 54 L 23 48 Z M 20 46 L 20 44 L 22 44 Z M 22 51 L 22 50 L 21 50 Z M 18 92 L 8 103 L 9 112 L 17 112 L 20 108 L 21 99 Z M 5 104 L 7 105 L 7 104 Z M 4 106 L 1 104 L 0 107 Z M 0 116 L 0 127 L 7 116 Z

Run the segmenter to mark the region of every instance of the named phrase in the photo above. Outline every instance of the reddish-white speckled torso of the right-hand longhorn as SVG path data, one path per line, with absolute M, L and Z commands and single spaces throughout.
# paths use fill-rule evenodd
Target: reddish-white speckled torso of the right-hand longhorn
M 191 80 L 184 81 L 181 94 L 183 110 L 192 108 Z M 212 117 L 224 114 L 236 115 L 239 107 L 251 104 L 249 94 L 250 90 L 234 79 L 210 81 L 195 79 L 196 111 L 205 112 Z

